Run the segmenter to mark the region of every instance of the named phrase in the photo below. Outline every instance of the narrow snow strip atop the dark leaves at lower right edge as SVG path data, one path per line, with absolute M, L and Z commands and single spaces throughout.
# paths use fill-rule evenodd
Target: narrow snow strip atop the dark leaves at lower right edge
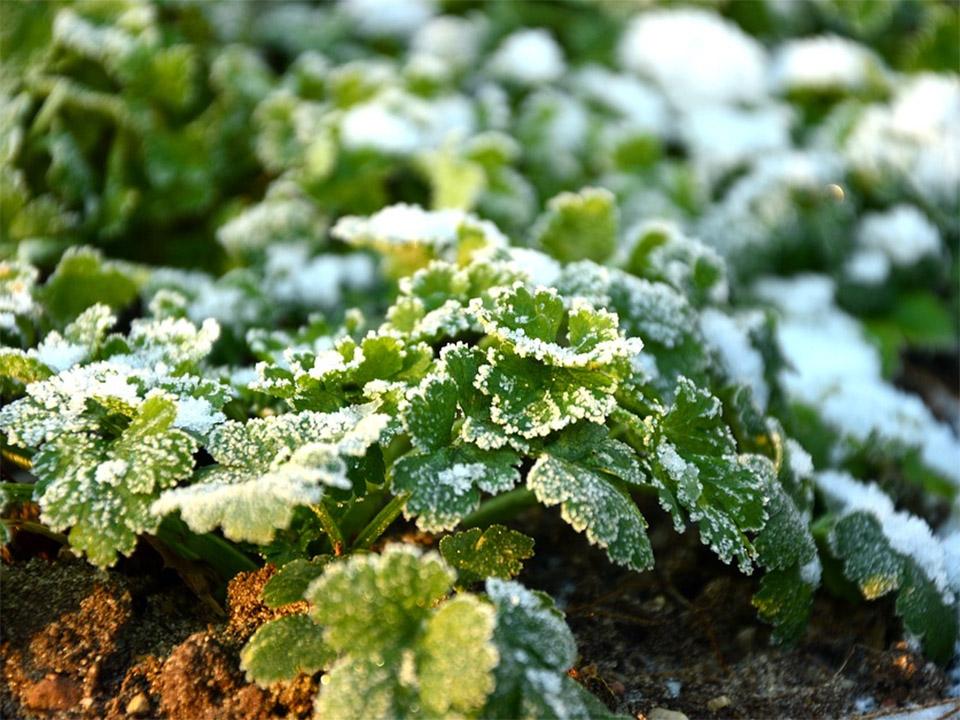
M 873 515 L 890 547 L 913 559 L 937 591 L 944 595 L 946 602 L 953 602 L 952 583 L 947 575 L 947 554 L 926 522 L 908 512 L 898 512 L 890 497 L 876 484 L 857 482 L 845 472 L 826 470 L 818 473 L 816 483 L 821 492 L 841 506 L 843 515 L 855 512 Z

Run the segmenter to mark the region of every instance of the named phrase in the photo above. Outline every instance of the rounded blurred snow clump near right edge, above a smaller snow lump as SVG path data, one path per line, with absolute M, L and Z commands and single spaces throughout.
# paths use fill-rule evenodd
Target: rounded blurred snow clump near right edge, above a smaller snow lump
M 897 205 L 882 213 L 867 213 L 857 228 L 857 242 L 879 250 L 894 265 L 905 267 L 940 251 L 940 233 L 913 205 Z

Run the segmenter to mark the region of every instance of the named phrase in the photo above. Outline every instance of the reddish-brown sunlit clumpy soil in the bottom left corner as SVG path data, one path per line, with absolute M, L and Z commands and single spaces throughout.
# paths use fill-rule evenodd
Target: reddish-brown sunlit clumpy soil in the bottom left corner
M 224 620 L 156 568 L 104 572 L 70 558 L 3 567 L 0 717 L 309 717 L 313 678 L 262 689 L 240 670 L 257 627 L 304 609 L 260 602 L 273 572 L 234 578 Z

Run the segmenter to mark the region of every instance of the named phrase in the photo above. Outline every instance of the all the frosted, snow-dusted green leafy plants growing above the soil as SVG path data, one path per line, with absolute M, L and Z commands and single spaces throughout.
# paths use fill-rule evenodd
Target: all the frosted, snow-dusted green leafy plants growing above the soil
M 147 547 L 213 611 L 253 573 L 232 662 L 319 677 L 318 717 L 641 709 L 524 584 L 544 518 L 636 574 L 693 535 L 775 644 L 877 601 L 956 667 L 955 5 L 0 26 L 14 572 L 31 537 L 120 574 Z M 75 700 L 17 712 L 106 712 Z

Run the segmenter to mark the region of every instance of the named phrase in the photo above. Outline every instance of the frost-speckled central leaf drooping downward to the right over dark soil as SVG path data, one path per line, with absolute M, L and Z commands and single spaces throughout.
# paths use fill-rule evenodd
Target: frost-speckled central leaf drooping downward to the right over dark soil
M 527 487 L 611 561 L 637 571 L 653 566 L 647 522 L 629 486 L 645 482 L 632 451 L 606 437 L 606 429 L 584 424 L 546 447 L 527 475 Z

